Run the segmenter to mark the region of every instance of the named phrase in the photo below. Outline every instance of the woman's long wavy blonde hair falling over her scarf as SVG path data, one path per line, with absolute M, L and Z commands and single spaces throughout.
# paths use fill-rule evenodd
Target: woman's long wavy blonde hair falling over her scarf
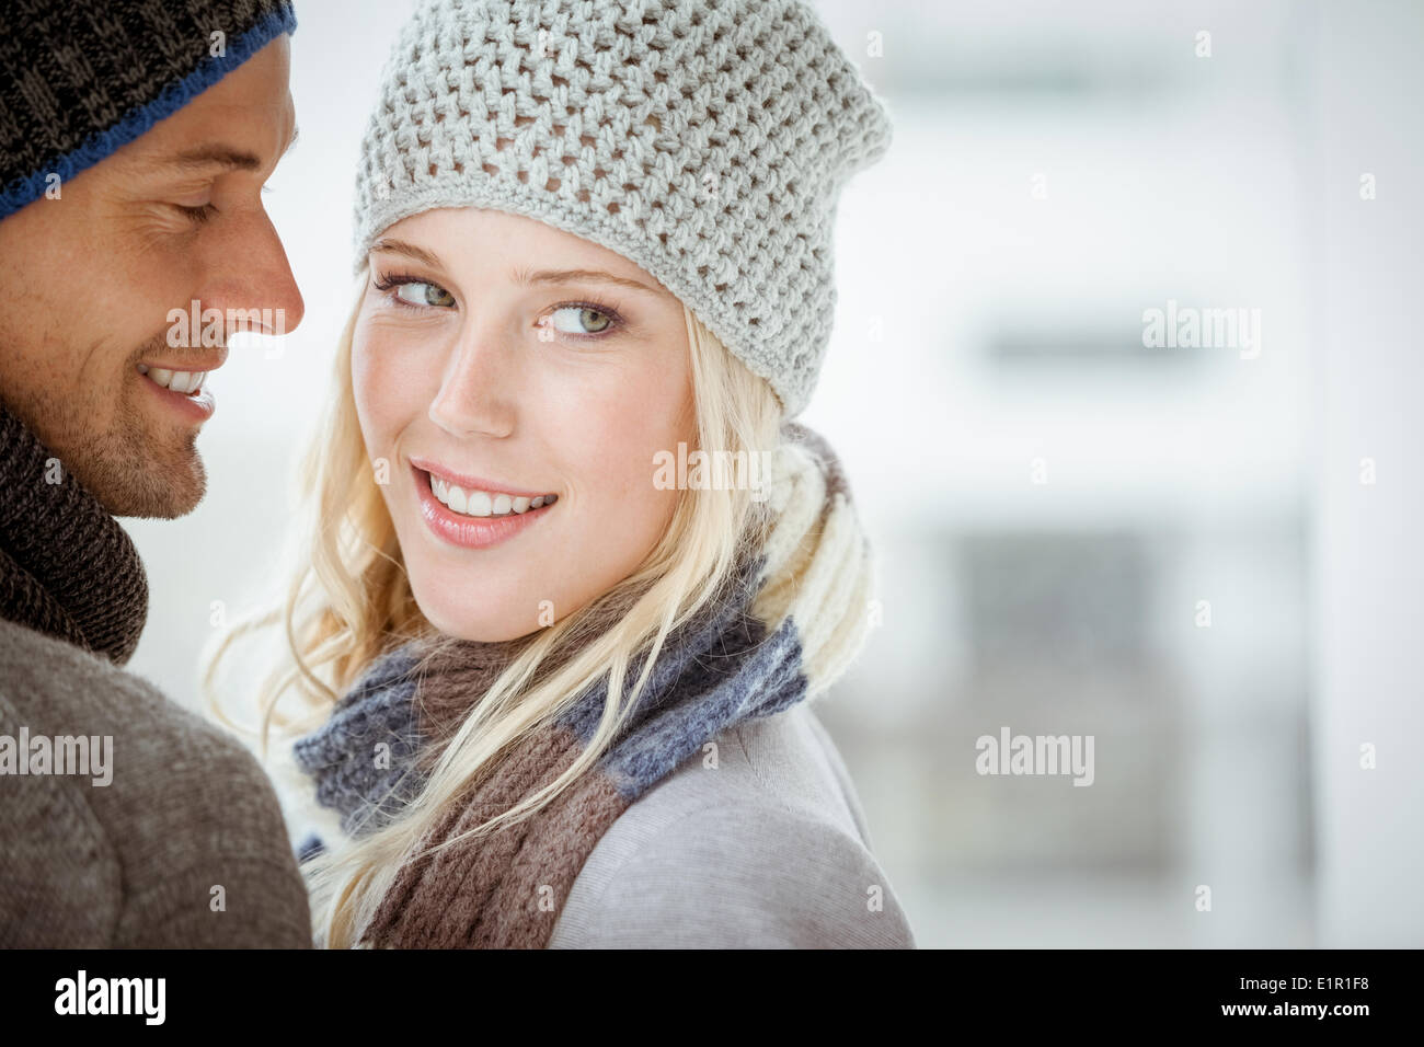
M 362 274 L 362 286 L 365 274 Z M 206 658 L 204 687 L 216 714 L 219 662 L 235 640 L 281 627 L 279 664 L 259 688 L 262 752 L 278 725 L 278 702 L 295 692 L 303 726 L 320 722 L 362 671 L 407 640 L 444 642 L 410 591 L 394 526 L 377 486 L 383 463 L 367 459 L 352 389 L 352 336 L 362 296 L 337 345 L 333 393 L 300 467 L 306 499 L 298 566 L 286 598 L 221 635 Z M 691 353 L 698 447 L 773 452 L 780 405 L 770 385 L 684 308 Z M 651 480 L 649 462 L 649 480 Z M 389 466 L 386 466 L 389 469 Z M 723 595 L 738 561 L 765 538 L 765 506 L 749 490 L 682 490 L 669 526 L 642 566 L 588 607 L 521 640 L 517 652 L 443 744 L 419 795 L 400 816 L 303 866 L 319 944 L 350 947 L 370 922 L 397 869 L 430 848 L 440 816 L 487 775 L 497 758 L 541 728 L 601 679 L 609 701 L 580 758 L 555 781 L 476 829 L 439 846 L 484 836 L 534 815 L 602 755 L 646 682 L 672 630 Z M 617 608 L 609 614 L 609 608 Z M 611 624 L 609 624 L 611 623 Z M 625 694 L 632 661 L 642 671 Z M 426 846 L 422 846 L 422 843 Z M 417 853 L 419 849 L 419 853 Z

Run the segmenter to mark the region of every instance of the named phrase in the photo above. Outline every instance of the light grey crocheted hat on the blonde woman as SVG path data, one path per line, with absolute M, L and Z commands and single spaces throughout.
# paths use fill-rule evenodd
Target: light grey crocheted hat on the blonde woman
M 481 207 L 637 262 L 768 379 L 810 397 L 842 184 L 884 105 L 800 0 L 420 0 L 356 178 L 356 269 L 409 215 Z

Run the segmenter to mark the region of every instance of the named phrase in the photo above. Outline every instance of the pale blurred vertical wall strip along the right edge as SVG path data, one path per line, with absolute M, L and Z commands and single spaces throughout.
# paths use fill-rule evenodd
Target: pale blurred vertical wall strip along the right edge
M 1424 944 L 1424 7 L 1326 4 L 1313 61 L 1320 944 Z M 1373 177 L 1374 198 L 1361 198 Z M 1366 191 L 1368 192 L 1368 189 Z

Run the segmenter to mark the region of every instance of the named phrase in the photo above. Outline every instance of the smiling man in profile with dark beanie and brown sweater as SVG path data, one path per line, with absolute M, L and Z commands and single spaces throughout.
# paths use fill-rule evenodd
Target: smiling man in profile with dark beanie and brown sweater
M 202 376 L 300 322 L 261 198 L 295 27 L 290 0 L 0 13 L 0 946 L 312 943 L 261 766 L 121 671 L 148 587 L 114 519 L 198 504 Z

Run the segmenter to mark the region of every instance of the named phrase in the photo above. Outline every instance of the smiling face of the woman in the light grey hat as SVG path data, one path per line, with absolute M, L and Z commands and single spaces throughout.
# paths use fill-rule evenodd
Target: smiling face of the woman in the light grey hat
M 612 251 L 483 208 L 406 218 L 372 249 L 352 380 L 416 601 L 449 635 L 550 625 L 666 530 L 679 491 L 654 456 L 695 432 L 682 303 Z

